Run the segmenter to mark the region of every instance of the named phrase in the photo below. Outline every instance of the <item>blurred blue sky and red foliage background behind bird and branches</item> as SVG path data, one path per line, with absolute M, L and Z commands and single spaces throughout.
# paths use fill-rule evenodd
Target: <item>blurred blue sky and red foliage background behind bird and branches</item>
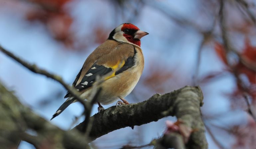
M 199 85 L 209 149 L 255 149 L 255 4 L 255 0 L 0 0 L 0 44 L 71 84 L 108 34 L 122 23 L 132 23 L 149 35 L 141 40 L 145 69 L 126 97 L 129 103 Z M 0 81 L 47 120 L 64 102 L 62 85 L 3 53 L 0 72 Z M 84 120 L 73 123 L 82 112 L 82 106 L 74 103 L 51 123 L 70 129 Z M 119 129 L 91 145 L 112 149 L 148 144 L 162 136 L 167 120 L 176 118 Z M 34 146 L 21 142 L 19 149 L 23 148 Z

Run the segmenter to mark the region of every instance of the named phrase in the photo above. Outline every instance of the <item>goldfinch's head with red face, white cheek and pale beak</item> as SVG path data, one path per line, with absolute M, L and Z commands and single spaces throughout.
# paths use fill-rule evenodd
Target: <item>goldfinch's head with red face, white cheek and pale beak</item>
M 116 27 L 109 35 L 108 39 L 114 39 L 121 42 L 132 43 L 140 46 L 140 38 L 149 33 L 141 31 L 137 26 L 124 23 Z

